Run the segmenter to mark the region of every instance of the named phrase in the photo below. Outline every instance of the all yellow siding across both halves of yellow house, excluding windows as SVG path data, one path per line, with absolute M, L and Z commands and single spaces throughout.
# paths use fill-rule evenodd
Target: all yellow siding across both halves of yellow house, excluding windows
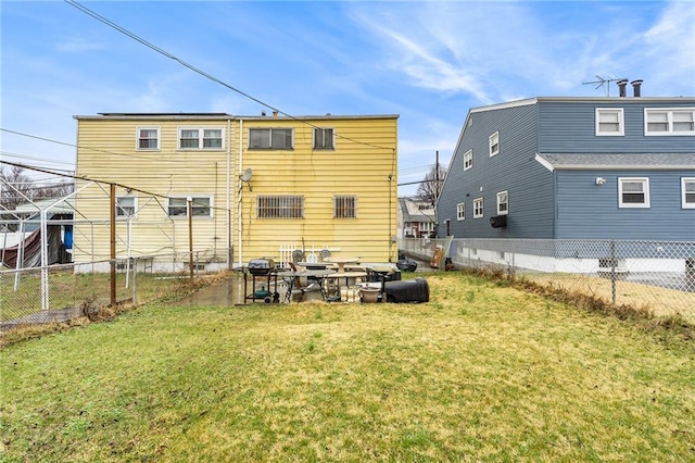
M 314 126 L 334 129 L 334 150 L 312 150 Z M 160 150 L 136 150 L 138 127 L 159 127 Z M 224 149 L 178 150 L 179 127 L 223 128 Z M 249 150 L 252 127 L 294 128 L 294 149 Z M 166 198 L 202 196 L 212 198 L 213 216 L 192 221 L 193 248 L 201 261 L 226 262 L 230 240 L 235 263 L 260 256 L 278 259 L 281 245 L 328 247 L 339 250 L 333 255 L 357 256 L 363 262 L 395 261 L 397 250 L 391 237 L 396 234 L 396 116 L 304 122 L 287 117 L 241 122 L 232 116 L 78 117 L 77 175 L 98 182 L 84 189 L 88 180 L 77 185 L 75 260 L 109 258 L 109 183 L 115 183 L 116 196 L 135 196 L 138 201 L 129 233 L 126 221 L 116 224 L 119 258 L 129 252 L 134 256 L 162 255 L 163 262 L 174 262 L 170 254 L 176 252 L 177 262 L 186 261 L 188 220 L 169 217 Z M 253 190 L 244 185 L 239 198 L 238 174 L 247 167 L 253 168 L 249 184 Z M 304 218 L 257 218 L 258 195 L 303 195 Z M 356 218 L 333 218 L 334 195 L 356 196 Z

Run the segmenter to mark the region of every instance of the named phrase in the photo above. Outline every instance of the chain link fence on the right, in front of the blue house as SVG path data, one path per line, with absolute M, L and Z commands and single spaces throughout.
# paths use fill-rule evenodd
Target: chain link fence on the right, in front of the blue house
M 428 262 L 439 249 L 441 262 L 432 263 L 442 270 L 450 259 L 455 267 L 503 270 L 657 316 L 695 321 L 695 241 L 405 239 L 400 249 Z

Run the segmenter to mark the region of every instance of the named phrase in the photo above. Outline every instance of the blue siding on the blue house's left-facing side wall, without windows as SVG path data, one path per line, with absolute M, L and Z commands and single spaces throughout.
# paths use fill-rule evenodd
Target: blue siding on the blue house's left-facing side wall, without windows
M 448 177 L 438 203 L 439 236 L 451 221 L 458 238 L 552 238 L 553 173 L 534 161 L 536 105 L 498 109 L 470 114 L 472 125 L 464 128 Z M 489 137 L 500 132 L 500 153 L 490 158 Z M 464 153 L 473 150 L 473 166 L 464 171 Z M 482 189 L 482 191 L 481 191 Z M 506 228 L 493 228 L 497 192 L 508 191 Z M 473 200 L 483 198 L 484 216 L 473 218 Z M 466 204 L 466 220 L 456 220 L 456 204 Z

